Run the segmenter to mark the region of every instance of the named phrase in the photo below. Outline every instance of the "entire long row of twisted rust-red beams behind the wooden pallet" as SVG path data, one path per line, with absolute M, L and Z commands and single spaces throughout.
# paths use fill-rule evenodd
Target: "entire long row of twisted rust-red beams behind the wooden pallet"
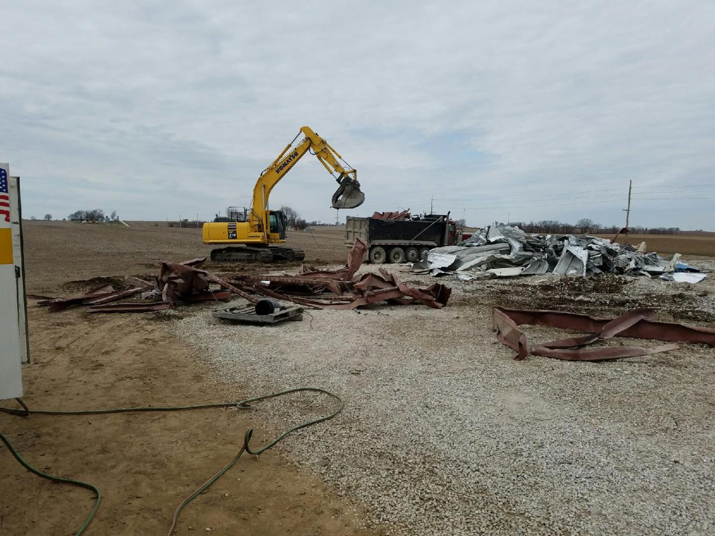
M 125 282 L 129 283 L 125 289 L 114 290 L 111 285 L 104 285 L 78 296 L 36 298 L 41 299 L 38 304 L 49 305 L 52 312 L 73 304 L 85 304 L 93 313 L 158 311 L 172 309 L 177 302 L 226 302 L 232 294 L 253 304 L 268 296 L 314 309 L 355 309 L 382 301 L 400 305 L 421 303 L 435 309 L 447 304 L 451 290 L 442 284 L 418 289 L 399 282 L 384 269 L 380 269 L 380 274 L 355 276 L 363 264 L 367 248 L 367 243 L 358 238 L 350 249 L 345 267 L 320 270 L 303 265 L 295 276 L 222 277 L 202 269 L 205 257 L 185 262 L 162 261 L 153 283 L 125 277 Z M 210 288 L 211 284 L 217 284 L 220 289 Z M 115 303 L 135 294 L 141 294 L 143 301 Z

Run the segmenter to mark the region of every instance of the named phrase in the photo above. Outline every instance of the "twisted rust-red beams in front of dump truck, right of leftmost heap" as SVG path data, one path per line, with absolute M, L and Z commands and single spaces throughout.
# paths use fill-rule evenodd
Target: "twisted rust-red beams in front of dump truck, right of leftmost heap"
M 355 309 L 383 301 L 400 305 L 421 303 L 434 309 L 447 304 L 452 291 L 443 284 L 418 289 L 400 283 L 385 269 L 380 269 L 380 274 L 355 277 L 367 247 L 363 239 L 355 239 L 347 265 L 339 270 L 318 270 L 304 265 L 295 276 L 247 275 L 225 279 L 223 283 L 231 284 L 231 288 L 240 290 L 250 301 L 258 299 L 250 297 L 257 293 L 315 309 Z

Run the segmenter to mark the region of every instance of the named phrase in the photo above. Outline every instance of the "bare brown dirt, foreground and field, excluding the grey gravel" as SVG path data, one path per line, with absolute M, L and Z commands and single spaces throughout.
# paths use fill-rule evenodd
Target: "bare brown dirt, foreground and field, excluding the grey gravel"
M 24 232 L 28 292 L 37 294 L 88 289 L 107 277 L 144 276 L 155 272 L 159 259 L 182 261 L 210 251 L 201 242 L 200 229 L 154 227 L 150 222 L 132 227 L 25 222 Z M 288 244 L 305 249 L 309 264 L 342 264 L 347 254 L 343 233 L 341 227 L 318 227 L 312 234 L 291 233 Z M 650 235 L 645 239 L 652 242 Z M 679 247 L 684 244 L 683 237 L 658 239 L 673 239 Z M 631 237 L 631 242 L 636 240 Z M 704 248 L 715 249 L 715 239 L 706 242 L 709 245 L 677 251 L 686 258 L 704 255 L 710 251 Z M 659 251 L 668 252 L 665 246 Z M 296 266 L 283 264 L 281 269 Z M 217 272 L 265 272 L 265 266 L 257 263 L 206 267 Z M 707 326 L 715 322 L 711 311 L 686 316 L 699 299 L 695 289 L 683 287 L 669 303 L 656 296 L 652 303 L 631 303 L 627 295 L 609 287 L 615 283 L 593 281 L 584 279 L 579 283 L 582 288 L 568 289 L 561 289 L 558 282 L 544 282 L 537 294 L 518 282 L 508 292 L 503 287 L 491 292 L 490 283 L 471 282 L 455 296 L 454 304 L 485 310 L 490 304 L 581 307 L 601 314 L 652 305 L 666 315 L 664 319 L 691 319 Z M 603 284 L 606 287 L 601 288 Z M 710 278 L 702 288 L 713 292 Z M 209 308 L 193 306 L 194 312 L 198 307 Z M 162 314 L 92 315 L 84 309 L 51 314 L 31 306 L 32 363 L 24 367 L 26 403 L 34 409 L 79 410 L 191 405 L 259 394 L 250 384 L 218 381 L 171 334 L 166 320 Z M 463 322 L 465 331 L 471 329 L 466 320 L 458 322 Z M 197 410 L 27 419 L 0 414 L 0 430 L 32 465 L 92 482 L 102 490 L 102 506 L 88 534 L 163 534 L 174 508 L 235 455 L 250 426 L 256 430 L 256 444 L 278 431 L 262 420 L 260 407 L 248 413 Z M 90 492 L 29 475 L 4 449 L 0 449 L 0 467 L 7 475 L 0 492 L 3 534 L 67 535 L 82 525 L 92 507 Z M 177 534 L 382 534 L 379 529 L 360 528 L 364 523 L 365 513 L 339 497 L 320 475 L 307 467 L 298 470 L 270 450 L 258 459 L 245 457 L 192 502 L 179 519 Z

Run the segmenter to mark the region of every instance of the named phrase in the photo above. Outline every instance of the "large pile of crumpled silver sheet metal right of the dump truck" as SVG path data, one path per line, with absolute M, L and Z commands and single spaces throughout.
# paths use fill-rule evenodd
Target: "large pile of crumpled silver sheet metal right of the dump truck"
M 412 270 L 434 276 L 450 273 L 464 280 L 604 272 L 659 277 L 677 272 L 679 258 L 680 254 L 676 254 L 666 261 L 657 253 L 638 251 L 628 244 L 612 244 L 607 239 L 588 235 L 526 234 L 516 226 L 495 222 L 457 246 L 431 249 L 428 259 L 413 264 Z

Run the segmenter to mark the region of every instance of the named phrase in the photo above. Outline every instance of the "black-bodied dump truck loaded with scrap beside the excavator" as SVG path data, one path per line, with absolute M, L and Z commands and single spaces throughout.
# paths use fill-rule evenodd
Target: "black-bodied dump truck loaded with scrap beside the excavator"
M 428 214 L 419 219 L 379 219 L 348 216 L 345 246 L 356 238 L 368 243 L 367 259 L 373 264 L 418 262 L 430 249 L 458 244 L 463 229 L 449 214 Z

